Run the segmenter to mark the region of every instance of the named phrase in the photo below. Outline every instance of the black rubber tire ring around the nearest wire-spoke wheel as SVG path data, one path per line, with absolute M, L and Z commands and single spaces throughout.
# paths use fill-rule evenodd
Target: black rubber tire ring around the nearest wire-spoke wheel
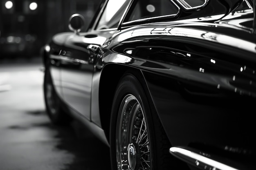
M 151 165 L 150 169 L 154 169 L 153 165 L 155 165 L 155 134 L 153 127 L 153 120 L 150 112 L 150 105 L 148 103 L 148 99 L 146 97 L 146 93 L 141 86 L 139 80 L 132 74 L 125 74 L 123 78 L 121 78 L 117 90 L 115 92 L 113 105 L 112 105 L 112 113 L 111 113 L 111 121 L 110 121 L 110 152 L 111 152 L 111 165 L 112 170 L 117 169 L 117 158 L 116 158 L 116 128 L 117 128 L 117 119 L 118 112 L 123 101 L 124 97 L 128 94 L 133 95 L 139 102 L 141 109 L 143 110 L 144 117 L 146 120 L 146 126 L 148 129 L 148 137 L 150 142 L 150 159 Z M 113 149 L 115 148 L 115 149 Z

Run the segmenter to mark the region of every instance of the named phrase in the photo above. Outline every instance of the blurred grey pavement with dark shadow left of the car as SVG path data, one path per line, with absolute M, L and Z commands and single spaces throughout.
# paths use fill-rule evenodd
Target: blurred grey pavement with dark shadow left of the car
M 50 123 L 40 57 L 0 60 L 0 170 L 110 170 L 108 146 L 79 122 Z

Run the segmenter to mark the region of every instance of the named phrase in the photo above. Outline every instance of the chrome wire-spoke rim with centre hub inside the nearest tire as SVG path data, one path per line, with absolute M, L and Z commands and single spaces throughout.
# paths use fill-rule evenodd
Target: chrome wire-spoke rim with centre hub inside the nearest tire
M 149 170 L 150 143 L 143 110 L 133 95 L 126 95 L 119 108 L 116 148 L 119 170 Z

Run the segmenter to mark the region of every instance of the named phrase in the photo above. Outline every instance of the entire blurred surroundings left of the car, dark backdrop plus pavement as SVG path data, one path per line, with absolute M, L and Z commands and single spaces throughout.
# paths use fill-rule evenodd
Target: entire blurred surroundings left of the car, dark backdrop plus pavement
M 40 51 L 70 31 L 74 13 L 89 26 L 101 0 L 0 0 L 0 170 L 108 170 L 109 148 L 79 122 L 53 126 L 45 110 Z

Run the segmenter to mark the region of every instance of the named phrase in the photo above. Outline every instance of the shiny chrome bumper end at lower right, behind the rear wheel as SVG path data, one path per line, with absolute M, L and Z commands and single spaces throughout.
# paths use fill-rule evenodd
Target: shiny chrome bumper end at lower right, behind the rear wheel
M 195 152 L 183 148 L 171 147 L 169 152 L 175 157 L 182 159 L 183 161 L 186 161 L 186 163 L 198 166 L 201 169 L 211 168 L 211 170 L 238 170 L 231 166 L 227 166 L 224 163 L 220 163 L 218 161 L 204 157 L 202 155 L 199 155 Z

